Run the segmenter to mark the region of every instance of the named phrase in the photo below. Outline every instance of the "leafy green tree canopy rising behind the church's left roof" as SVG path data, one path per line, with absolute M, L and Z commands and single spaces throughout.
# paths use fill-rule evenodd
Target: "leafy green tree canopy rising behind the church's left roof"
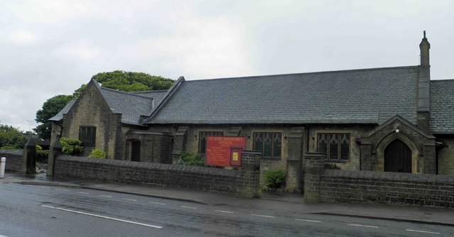
M 173 80 L 149 75 L 144 72 L 99 72 L 92 79 L 96 79 L 103 87 L 119 89 L 123 92 L 142 92 L 158 89 L 169 89 Z

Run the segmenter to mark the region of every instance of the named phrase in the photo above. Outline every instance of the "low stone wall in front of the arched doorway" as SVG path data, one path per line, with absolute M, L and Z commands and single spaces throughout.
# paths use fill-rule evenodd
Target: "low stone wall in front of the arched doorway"
M 454 208 L 454 175 L 324 170 L 320 202 L 375 202 Z

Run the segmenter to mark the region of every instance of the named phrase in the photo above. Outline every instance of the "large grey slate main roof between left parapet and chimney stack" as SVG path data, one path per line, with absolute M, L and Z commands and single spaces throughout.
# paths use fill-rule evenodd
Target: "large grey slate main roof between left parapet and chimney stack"
M 183 81 L 145 123 L 416 124 L 419 66 Z

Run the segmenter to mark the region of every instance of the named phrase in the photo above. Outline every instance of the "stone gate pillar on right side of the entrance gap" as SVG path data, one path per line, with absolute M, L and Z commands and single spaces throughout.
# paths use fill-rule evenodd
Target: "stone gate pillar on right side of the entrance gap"
M 320 177 L 323 174 L 326 155 L 306 153 L 304 161 L 304 204 L 320 202 Z

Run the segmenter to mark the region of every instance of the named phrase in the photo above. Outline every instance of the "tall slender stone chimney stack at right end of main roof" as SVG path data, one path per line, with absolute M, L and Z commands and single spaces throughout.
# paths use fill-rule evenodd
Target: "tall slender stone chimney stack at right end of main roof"
M 428 43 L 426 38 L 426 31 L 424 31 L 424 38 L 419 44 L 421 51 L 421 65 L 419 65 L 419 81 L 418 81 L 418 112 L 417 126 L 428 133 L 430 133 L 430 91 L 431 91 L 431 64 L 429 60 L 429 50 L 431 44 Z

